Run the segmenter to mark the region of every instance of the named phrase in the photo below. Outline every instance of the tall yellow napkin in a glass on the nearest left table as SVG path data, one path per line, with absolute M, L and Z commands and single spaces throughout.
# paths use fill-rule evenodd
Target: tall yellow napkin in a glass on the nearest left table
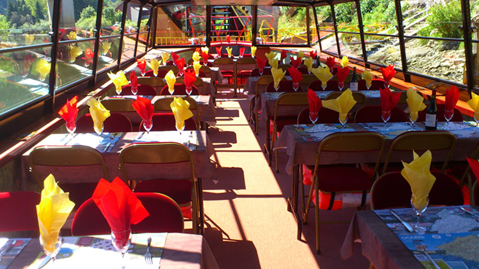
M 40 203 L 36 205 L 36 214 L 43 247 L 47 252 L 54 253 L 60 229 L 75 203 L 68 198 L 68 192 L 65 193 L 58 187 L 53 175 L 46 177 L 43 185 Z

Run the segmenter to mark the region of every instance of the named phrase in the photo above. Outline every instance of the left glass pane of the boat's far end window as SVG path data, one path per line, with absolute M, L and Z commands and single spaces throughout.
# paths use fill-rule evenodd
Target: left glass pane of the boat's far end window
M 159 7 L 156 25 L 156 45 L 206 44 L 206 8 L 204 6 Z

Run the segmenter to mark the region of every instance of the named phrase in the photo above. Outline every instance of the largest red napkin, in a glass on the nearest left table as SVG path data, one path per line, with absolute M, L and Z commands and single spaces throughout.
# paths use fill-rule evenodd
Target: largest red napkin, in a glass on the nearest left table
M 91 198 L 114 232 L 126 231 L 149 215 L 133 191 L 118 177 L 111 183 L 100 179 Z M 117 244 L 124 245 L 128 237 L 129 234 L 125 234 L 125 238 L 117 237 Z

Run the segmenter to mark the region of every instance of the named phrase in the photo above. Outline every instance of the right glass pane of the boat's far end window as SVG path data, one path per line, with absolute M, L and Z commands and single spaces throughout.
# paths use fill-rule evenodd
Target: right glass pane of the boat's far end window
M 258 6 L 257 27 L 262 44 L 308 44 L 305 7 Z

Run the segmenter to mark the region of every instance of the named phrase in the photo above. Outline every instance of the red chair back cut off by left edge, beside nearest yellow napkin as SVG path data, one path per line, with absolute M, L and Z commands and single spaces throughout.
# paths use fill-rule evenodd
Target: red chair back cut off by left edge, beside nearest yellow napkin
M 0 192 L 0 232 L 38 230 L 35 205 L 39 203 L 38 192 Z

